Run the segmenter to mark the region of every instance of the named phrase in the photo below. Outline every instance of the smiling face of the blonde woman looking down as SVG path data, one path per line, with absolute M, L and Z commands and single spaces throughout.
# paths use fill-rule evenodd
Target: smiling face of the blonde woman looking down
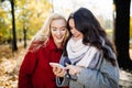
M 51 23 L 51 34 L 57 47 L 61 47 L 67 33 L 66 22 L 63 19 L 53 20 Z

